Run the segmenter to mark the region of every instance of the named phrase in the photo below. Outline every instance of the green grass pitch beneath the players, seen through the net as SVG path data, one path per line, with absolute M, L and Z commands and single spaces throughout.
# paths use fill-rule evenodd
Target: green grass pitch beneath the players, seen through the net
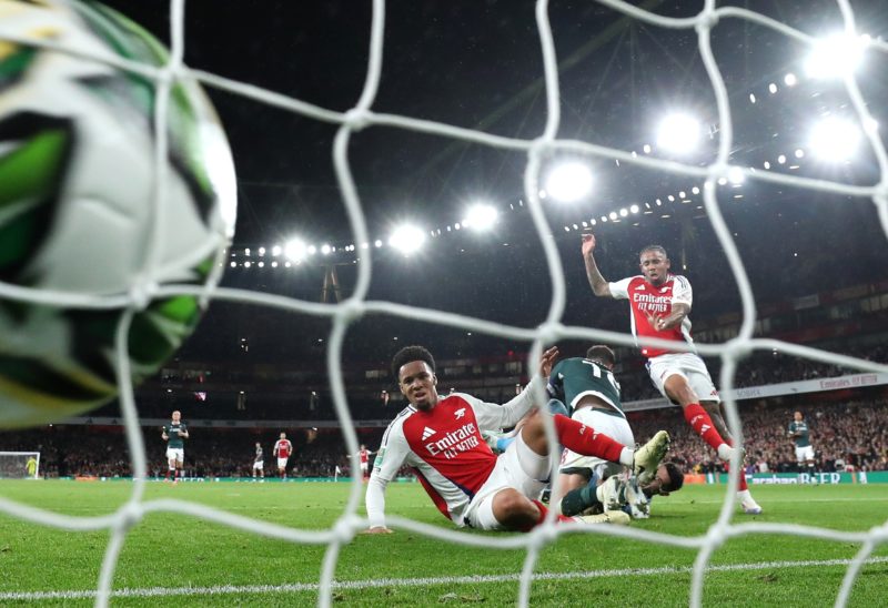
M 70 515 L 112 513 L 131 492 L 128 482 L 1 482 L 0 496 Z M 761 516 L 737 513 L 735 521 L 803 524 L 837 530 L 885 525 L 888 485 L 763 486 Z M 179 498 L 300 529 L 323 529 L 342 514 L 347 484 L 151 483 L 145 499 Z M 635 528 L 682 536 L 705 534 L 715 523 L 724 486 L 689 486 L 657 498 L 652 518 Z M 418 484 L 392 484 L 389 513 L 456 530 Z M 363 515 L 363 508 L 361 510 Z M 481 533 L 468 531 L 478 535 Z M 14 594 L 92 591 L 109 534 L 69 533 L 0 515 L 0 605 L 90 606 L 89 596 Z M 833 606 L 851 543 L 788 535 L 735 538 L 714 555 L 705 606 Z M 295 545 L 234 530 L 199 518 L 150 514 L 127 537 L 114 606 L 312 606 L 317 599 L 325 546 Z M 532 606 L 687 606 L 696 553 L 602 535 L 566 535 L 548 545 L 532 586 Z M 877 549 L 854 588 L 850 605 L 885 605 L 888 548 Z M 336 568 L 341 606 L 511 606 L 524 550 L 478 549 L 411 531 L 360 535 L 343 548 Z M 799 564 L 808 563 L 808 564 Z M 726 568 L 726 566 L 731 566 Z M 579 572 L 597 571 L 596 576 Z M 574 575 L 571 575 L 574 572 Z M 466 577 L 482 577 L 467 581 Z M 461 579 L 462 577 L 462 579 Z M 486 578 L 484 578 L 486 577 Z M 438 580 L 418 580 L 436 578 Z M 381 579 L 391 584 L 380 585 Z M 300 585 L 302 584 L 302 585 Z M 223 588 L 223 586 L 231 586 Z M 191 588 L 188 594 L 171 591 Z M 163 596 L 159 594 L 173 594 Z

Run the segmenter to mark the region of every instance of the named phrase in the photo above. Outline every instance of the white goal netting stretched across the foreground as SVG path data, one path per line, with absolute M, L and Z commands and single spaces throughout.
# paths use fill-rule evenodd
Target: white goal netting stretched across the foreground
M 847 0 L 837 1 L 844 17 L 846 32 L 848 34 L 856 34 L 854 13 L 849 2 L 847 2 Z M 718 241 L 726 252 L 734 278 L 739 287 L 743 301 L 743 323 L 739 335 L 736 338 L 719 345 L 698 345 L 697 349 L 703 355 L 717 355 L 723 359 L 719 378 L 720 387 L 726 395 L 728 395 L 728 398 L 726 399 L 727 422 L 731 434 L 738 442 L 743 442 L 743 430 L 737 414 L 736 403 L 730 394 L 734 387 L 734 376 L 738 359 L 755 349 L 770 351 L 773 348 L 779 348 L 784 353 L 789 353 L 791 355 L 805 357 L 811 361 L 856 367 L 864 371 L 888 373 L 887 366 L 877 365 L 862 359 L 841 356 L 834 353 L 788 344 L 775 340 L 757 340 L 753 337 L 754 323 L 756 320 L 756 306 L 753 298 L 753 292 L 750 290 L 749 281 L 743 262 L 731 239 L 730 232 L 728 231 L 728 227 L 723 219 L 719 203 L 716 197 L 716 183 L 720 178 L 728 178 L 729 170 L 734 170 L 735 172 L 740 171 L 748 180 L 760 180 L 851 196 L 867 196 L 870 197 L 876 204 L 881 226 L 886 234 L 888 234 L 888 182 L 885 180 L 886 175 L 888 175 L 888 155 L 886 155 L 885 146 L 878 138 L 875 123 L 871 120 L 867 107 L 861 98 L 854 75 L 849 74 L 845 77 L 845 87 L 852 102 L 854 110 L 860 119 L 860 124 L 864 126 L 869 145 L 878 161 L 879 174 L 881 176 L 881 181 L 878 184 L 871 186 L 856 186 L 829 181 L 796 178 L 778 173 L 753 172 L 743 166 L 733 168 L 728 164 L 729 151 L 731 150 L 733 143 L 731 113 L 728 105 L 728 95 L 725 83 L 710 48 L 710 34 L 713 29 L 718 24 L 719 20 L 723 19 L 745 19 L 761 28 L 770 28 L 777 32 L 791 37 L 803 44 L 811 44 L 815 42 L 815 39 L 808 34 L 789 28 L 784 23 L 749 10 L 736 7 L 716 8 L 715 0 L 706 0 L 703 11 L 695 17 L 684 19 L 672 19 L 656 16 L 618 0 L 599 0 L 599 2 L 615 11 L 619 11 L 632 18 L 642 20 L 656 27 L 696 30 L 700 57 L 703 58 L 713 89 L 715 91 L 718 108 L 718 124 L 720 126 L 720 133 L 718 135 L 718 154 L 714 163 L 709 164 L 708 166 L 700 168 L 680 164 L 677 162 L 667 162 L 640 156 L 636 158 L 634 154 L 624 152 L 622 150 L 605 148 L 582 141 L 557 140 L 555 135 L 559 124 L 558 72 L 552 30 L 549 28 L 547 16 L 548 2 L 545 0 L 539 0 L 536 3 L 536 22 L 544 59 L 547 120 L 544 132 L 532 141 L 495 136 L 483 132 L 460 129 L 436 122 L 415 120 L 407 116 L 374 113 L 371 108 L 376 97 L 383 60 L 383 28 L 385 23 L 384 0 L 373 1 L 373 23 L 366 81 L 360 100 L 353 109 L 345 113 L 325 110 L 297 99 L 292 99 L 285 95 L 265 91 L 250 84 L 231 81 L 211 73 L 199 70 L 189 70 L 185 68 L 182 63 L 185 42 L 183 29 L 185 6 L 184 0 L 172 0 L 171 2 L 170 14 L 172 23 L 172 49 L 170 62 L 165 67 L 155 69 L 153 67 L 134 64 L 124 60 L 109 59 L 108 57 L 90 58 L 109 62 L 124 70 L 138 72 L 152 79 L 157 83 L 158 97 L 160 100 L 160 102 L 157 104 L 155 114 L 155 124 L 158 125 L 155 130 L 158 133 L 155 162 L 158 166 L 157 178 L 159 181 L 165 180 L 163 170 L 164 163 L 160 162 L 160 160 L 165 155 L 164 151 L 167 142 L 164 138 L 165 130 L 161 125 L 165 124 L 167 100 L 169 98 L 171 83 L 179 79 L 196 79 L 209 87 L 225 90 L 262 103 L 289 110 L 306 118 L 339 124 L 340 128 L 334 142 L 334 165 L 339 185 L 345 202 L 345 209 L 349 215 L 349 222 L 354 236 L 354 242 L 356 243 L 367 242 L 369 239 L 364 213 L 361 209 L 357 191 L 355 189 L 355 183 L 352 179 L 349 165 L 349 142 L 353 132 L 356 132 L 369 125 L 387 125 L 422 133 L 436 134 L 445 138 L 456 138 L 481 145 L 525 152 L 528 160 L 524 172 L 524 191 L 531 215 L 533 217 L 534 226 L 541 235 L 541 244 L 545 252 L 548 271 L 552 278 L 553 291 L 552 302 L 548 308 L 546 321 L 536 330 L 525 330 L 457 314 L 442 313 L 440 311 L 414 308 L 384 301 L 367 301 L 366 294 L 372 270 L 371 250 L 367 250 L 362 254 L 363 260 L 357 266 L 357 281 L 354 293 L 344 302 L 335 305 L 315 304 L 284 296 L 259 294 L 232 288 L 204 288 L 194 287 L 191 285 L 168 285 L 157 287 L 151 281 L 151 271 L 154 267 L 152 255 L 148 255 L 145 257 L 148 262 L 145 264 L 143 276 L 147 277 L 147 281 L 143 288 L 134 290 L 134 293 L 122 294 L 117 297 L 91 297 L 60 293 L 34 292 L 14 285 L 0 284 L 0 295 L 12 300 L 50 303 L 54 305 L 70 305 L 82 308 L 113 308 L 123 306 L 129 310 L 129 314 L 122 315 L 123 318 L 118 328 L 117 340 L 119 355 L 118 377 L 121 394 L 120 401 L 125 419 L 127 438 L 130 453 L 132 455 L 132 470 L 134 474 L 132 493 L 127 504 L 111 515 L 101 517 L 72 517 L 37 509 L 30 505 L 26 506 L 6 498 L 0 498 L 0 509 L 2 509 L 2 511 L 36 524 L 52 526 L 67 530 L 111 530 L 111 540 L 105 549 L 104 560 L 99 578 L 99 588 L 95 597 L 97 606 L 105 606 L 109 602 L 109 598 L 111 597 L 110 594 L 114 568 L 120 550 L 127 538 L 127 533 L 134 525 L 139 524 L 139 521 L 141 521 L 141 519 L 149 513 L 179 513 L 200 517 L 204 520 L 219 523 L 271 538 L 278 538 L 292 543 L 326 545 L 327 550 L 323 561 L 319 585 L 319 605 L 321 606 L 331 605 L 332 591 L 334 588 L 333 580 L 335 565 L 341 547 L 344 544 L 347 544 L 359 530 L 365 528 L 367 525 L 367 521 L 364 518 L 356 515 L 361 496 L 363 494 L 363 485 L 360 476 L 355 476 L 353 480 L 347 505 L 342 517 L 340 517 L 335 526 L 324 531 L 295 530 L 181 500 L 143 499 L 145 487 L 144 484 L 147 478 L 145 449 L 142 440 L 142 434 L 139 428 L 132 386 L 129 381 L 130 368 L 125 353 L 128 352 L 127 335 L 129 333 L 132 313 L 140 307 L 143 307 L 148 298 L 158 298 L 179 294 L 196 294 L 212 300 L 221 298 L 249 304 L 261 304 L 299 314 L 330 317 L 333 322 L 333 328 L 327 340 L 329 348 L 326 352 L 326 366 L 333 389 L 333 402 L 342 424 L 347 452 L 352 454 L 353 470 L 359 469 L 359 447 L 352 418 L 345 401 L 343 378 L 339 362 L 342 354 L 343 338 L 345 337 L 346 330 L 349 328 L 350 324 L 355 322 L 362 315 L 369 313 L 394 315 L 417 320 L 425 323 L 460 327 L 471 330 L 473 332 L 483 332 L 493 336 L 532 342 L 533 346 L 528 356 L 528 365 L 531 365 L 529 368 L 532 369 L 536 368 L 535 362 L 537 362 L 539 358 L 543 345 L 552 344 L 564 338 L 606 341 L 616 344 L 633 345 L 634 341 L 632 336 L 627 334 L 604 332 L 587 327 L 564 326 L 561 324 L 565 308 L 564 273 L 562 271 L 562 262 L 554 242 L 551 239 L 542 237 L 542 235 L 549 234 L 551 229 L 547 225 L 546 219 L 541 209 L 538 197 L 541 163 L 547 155 L 554 152 L 569 151 L 576 154 L 617 159 L 622 162 L 634 163 L 648 169 L 655 169 L 658 171 L 666 171 L 674 174 L 682 174 L 704 180 L 705 185 L 703 192 L 705 210 L 712 222 Z M 73 52 L 74 54 L 82 54 L 71 49 L 59 48 L 47 40 L 36 41 L 8 36 L 2 32 L 1 26 L 0 38 L 13 40 L 23 44 L 53 48 L 65 52 Z M 888 51 L 888 44 L 882 41 L 871 41 L 870 44 L 871 48 L 877 49 L 878 51 Z M 158 188 L 157 192 L 163 192 L 163 189 Z M 159 225 L 159 222 L 155 225 Z M 153 251 L 157 247 L 152 246 L 151 249 Z M 645 343 L 655 346 L 665 345 L 663 341 L 652 340 L 645 341 Z M 674 343 L 669 343 L 668 345 L 675 346 Z M 544 396 L 542 394 L 538 395 L 541 401 L 543 397 Z M 546 433 L 551 444 L 554 445 L 555 433 L 552 422 L 548 418 L 546 419 Z M 734 460 L 730 463 L 731 469 L 736 469 L 738 464 L 737 456 L 735 455 Z M 556 473 L 557 459 L 555 455 L 553 455 L 552 465 L 553 473 Z M 636 540 L 697 549 L 698 554 L 694 564 L 690 592 L 690 605 L 695 607 L 700 606 L 702 602 L 704 575 L 713 551 L 730 538 L 749 534 L 790 534 L 839 543 L 859 543 L 861 544 L 861 548 L 855 559 L 851 560 L 839 594 L 836 598 L 836 605 L 844 606 L 848 600 L 851 587 L 866 559 L 879 544 L 888 540 L 888 526 L 881 526 L 868 533 L 841 533 L 825 528 L 787 524 L 731 524 L 730 518 L 731 514 L 734 513 L 734 496 L 736 493 L 736 485 L 737 479 L 735 476 L 731 476 L 730 483 L 725 488 L 725 501 L 718 516 L 718 520 L 713 524 L 708 533 L 703 536 L 678 537 L 668 534 L 658 534 L 646 530 L 635 530 L 630 528 L 610 526 L 589 526 L 583 528 L 583 531 L 586 534 L 619 536 Z M 553 499 L 557 500 L 557 498 L 558 497 L 555 496 Z M 532 533 L 523 536 L 509 536 L 504 538 L 491 538 L 490 536 L 461 534 L 451 528 L 424 525 L 396 516 L 389 516 L 387 519 L 391 524 L 394 524 L 394 526 L 398 528 L 412 530 L 447 543 L 460 543 L 467 546 L 485 548 L 525 548 L 527 550 L 527 556 L 519 578 L 521 591 L 518 601 L 521 606 L 528 605 L 532 572 L 536 565 L 541 549 L 547 543 L 551 543 L 553 539 L 555 539 L 564 529 L 554 525 L 554 511 L 549 514 L 549 519 L 545 525 L 537 527 Z M 575 533 L 576 528 L 573 527 L 572 531 Z

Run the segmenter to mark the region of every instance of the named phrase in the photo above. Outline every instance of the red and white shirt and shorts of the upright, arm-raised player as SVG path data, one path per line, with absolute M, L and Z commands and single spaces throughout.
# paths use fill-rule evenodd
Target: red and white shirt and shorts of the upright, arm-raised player
M 669 274 L 659 286 L 650 284 L 644 276 L 636 275 L 616 283 L 609 283 L 610 295 L 615 300 L 629 301 L 629 321 L 632 333 L 636 341 L 638 337 L 658 337 L 694 344 L 690 337 L 690 318 L 685 316 L 679 325 L 668 330 L 657 331 L 647 321 L 647 315 L 655 314 L 665 317 L 672 314 L 675 304 L 687 304 L 694 301 L 690 282 L 680 274 Z M 713 378 L 706 364 L 695 353 L 673 352 L 668 348 L 642 346 L 642 355 L 647 357 L 647 372 L 657 391 L 666 397 L 664 383 L 674 374 L 684 376 L 700 401 L 720 402 L 718 391 L 713 384 Z M 667 397 L 668 398 L 668 397 Z

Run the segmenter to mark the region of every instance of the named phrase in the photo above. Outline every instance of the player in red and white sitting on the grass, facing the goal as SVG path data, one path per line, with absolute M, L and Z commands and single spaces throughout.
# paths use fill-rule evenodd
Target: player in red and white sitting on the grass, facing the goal
M 543 354 L 543 376 L 552 371 L 557 352 L 553 347 Z M 366 493 L 367 531 L 391 531 L 385 527 L 385 487 L 404 464 L 415 468 L 435 506 L 457 526 L 529 530 L 543 521 L 547 509 L 534 499 L 549 476 L 543 414 L 532 414 L 516 440 L 498 457 L 481 436 L 481 430 L 515 426 L 534 405 L 538 375 L 523 393 L 496 405 L 464 393 L 440 397 L 435 359 L 422 346 L 407 346 L 395 354 L 392 373 L 410 405 L 389 425 L 377 450 Z M 655 474 L 669 445 L 669 436 L 659 432 L 633 450 L 561 414 L 553 416 L 553 423 L 566 447 L 623 463 L 646 477 Z M 628 520 L 625 514 L 605 514 L 599 520 Z

